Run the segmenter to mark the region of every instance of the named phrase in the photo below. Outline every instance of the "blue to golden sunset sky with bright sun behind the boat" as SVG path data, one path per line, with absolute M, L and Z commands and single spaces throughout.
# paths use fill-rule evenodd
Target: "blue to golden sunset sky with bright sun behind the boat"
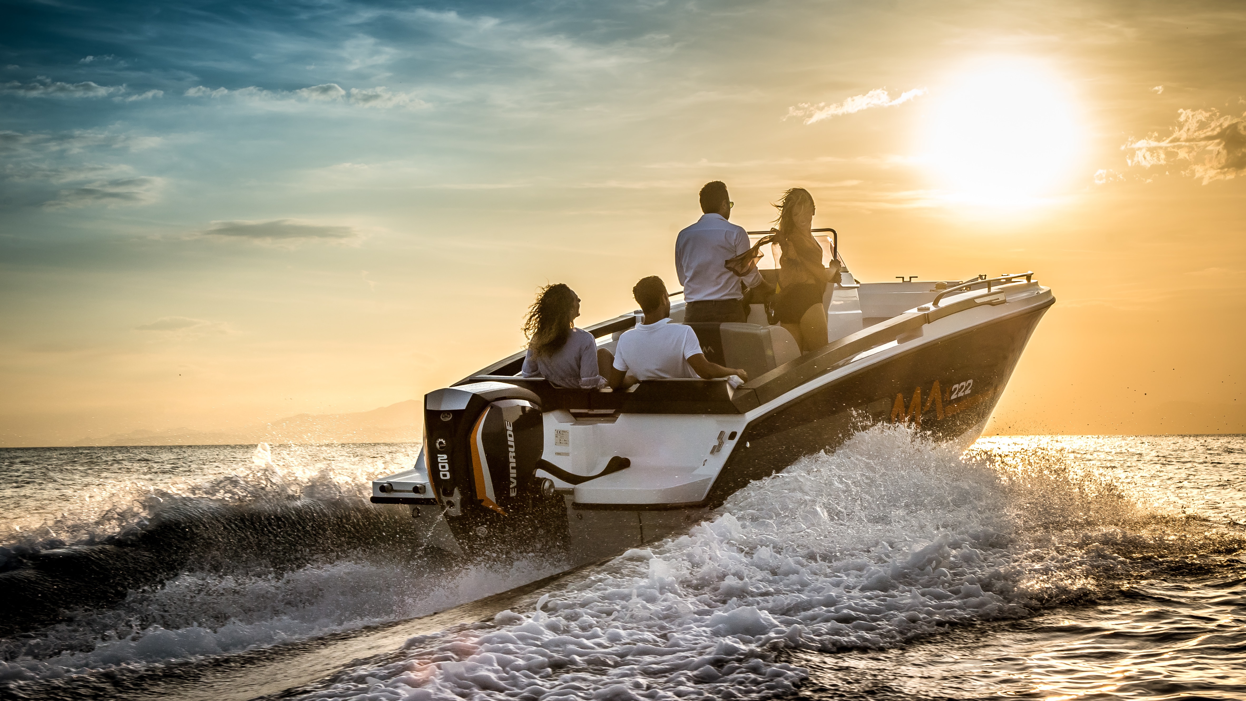
M 6 1 L 0 445 L 419 398 L 675 287 L 697 191 L 1033 269 L 993 433 L 1246 432 L 1236 1 Z

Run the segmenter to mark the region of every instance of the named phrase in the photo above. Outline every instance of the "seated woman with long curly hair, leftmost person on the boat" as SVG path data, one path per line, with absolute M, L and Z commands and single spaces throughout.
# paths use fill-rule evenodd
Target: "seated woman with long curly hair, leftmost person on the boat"
M 611 367 L 614 355 L 598 348 L 593 334 L 574 327 L 578 316 L 579 297 L 569 287 L 558 282 L 541 288 L 523 322 L 528 338 L 523 377 L 543 377 L 569 389 L 606 387 L 599 368 Z

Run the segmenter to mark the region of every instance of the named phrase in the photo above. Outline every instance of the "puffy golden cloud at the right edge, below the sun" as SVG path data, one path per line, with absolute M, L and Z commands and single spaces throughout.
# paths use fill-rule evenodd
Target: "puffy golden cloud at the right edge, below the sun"
M 1121 146 L 1133 151 L 1125 161 L 1144 168 L 1187 161 L 1190 167 L 1184 172 L 1201 177 L 1204 185 L 1246 175 L 1246 114 L 1235 117 L 1214 109 L 1177 110 L 1176 121 L 1168 138 L 1153 133 Z

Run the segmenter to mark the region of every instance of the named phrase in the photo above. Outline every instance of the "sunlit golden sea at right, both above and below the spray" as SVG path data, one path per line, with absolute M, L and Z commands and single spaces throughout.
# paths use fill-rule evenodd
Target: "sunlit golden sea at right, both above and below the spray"
M 1006 464 L 1045 452 L 1199 533 L 1246 521 L 1246 437 L 993 437 L 974 449 Z M 809 699 L 1246 699 L 1246 558 L 1192 551 L 1078 606 L 790 661 L 810 670 Z

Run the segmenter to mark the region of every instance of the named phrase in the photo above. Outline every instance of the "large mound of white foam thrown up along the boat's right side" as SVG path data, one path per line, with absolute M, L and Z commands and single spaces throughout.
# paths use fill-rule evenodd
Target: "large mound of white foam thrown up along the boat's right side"
M 1059 475 L 1001 475 L 986 459 L 875 427 L 531 614 L 412 639 L 405 660 L 354 670 L 308 699 L 786 695 L 805 672 L 775 661 L 776 650 L 882 647 L 1025 616 L 1119 566 L 1088 546 L 1098 536 L 1087 528 L 1103 526 L 1060 520 L 1052 504 L 1096 508 Z

